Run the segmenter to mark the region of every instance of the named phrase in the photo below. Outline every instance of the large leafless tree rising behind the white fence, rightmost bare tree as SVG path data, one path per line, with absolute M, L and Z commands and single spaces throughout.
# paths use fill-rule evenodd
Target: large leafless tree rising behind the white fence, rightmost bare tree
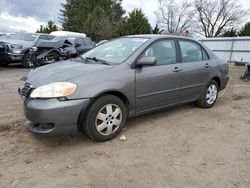
M 218 37 L 235 27 L 247 14 L 235 0 L 194 0 L 197 11 L 196 32 L 205 37 Z

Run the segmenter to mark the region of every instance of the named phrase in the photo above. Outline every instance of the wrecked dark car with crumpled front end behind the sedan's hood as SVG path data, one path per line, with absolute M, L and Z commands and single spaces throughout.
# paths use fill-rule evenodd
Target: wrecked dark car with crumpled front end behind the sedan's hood
M 51 64 L 60 60 L 75 58 L 94 48 L 95 44 L 88 37 L 55 36 L 52 40 L 39 40 L 30 49 L 29 66 Z

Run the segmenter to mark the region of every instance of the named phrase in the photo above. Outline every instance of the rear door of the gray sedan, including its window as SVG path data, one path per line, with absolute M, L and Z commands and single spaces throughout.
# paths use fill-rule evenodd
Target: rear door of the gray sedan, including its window
M 182 59 L 182 92 L 183 101 L 197 98 L 208 83 L 211 62 L 205 49 L 197 42 L 179 39 Z

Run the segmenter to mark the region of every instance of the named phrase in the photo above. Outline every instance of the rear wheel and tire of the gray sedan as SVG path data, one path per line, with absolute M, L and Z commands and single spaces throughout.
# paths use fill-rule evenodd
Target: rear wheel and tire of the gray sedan
M 198 106 L 201 108 L 211 108 L 216 103 L 218 94 L 218 83 L 215 80 L 210 80 L 197 103 Z

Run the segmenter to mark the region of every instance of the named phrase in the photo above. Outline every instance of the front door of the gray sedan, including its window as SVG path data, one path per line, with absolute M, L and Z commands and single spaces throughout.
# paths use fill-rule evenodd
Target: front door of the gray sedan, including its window
M 175 40 L 157 41 L 142 56 L 156 57 L 157 64 L 136 69 L 137 114 L 177 103 L 182 72 Z

